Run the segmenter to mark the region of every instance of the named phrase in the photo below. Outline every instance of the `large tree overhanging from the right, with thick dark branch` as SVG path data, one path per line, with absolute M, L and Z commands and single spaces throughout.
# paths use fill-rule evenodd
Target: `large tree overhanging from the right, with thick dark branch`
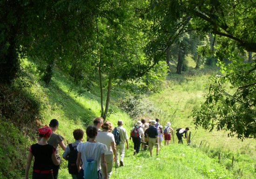
M 199 112 L 194 110 L 195 125 L 210 130 L 217 126 L 217 129 L 229 130 L 229 135 L 235 134 L 241 139 L 255 138 L 256 65 L 255 60 L 246 64 L 240 60 L 244 50 L 256 52 L 254 5 L 250 0 L 152 0 L 148 8 L 155 20 L 152 33 L 157 37 L 155 48 L 160 51 L 189 31 L 214 36 L 212 44 L 216 46 L 212 48 L 212 54 L 222 66 L 223 80 L 213 80 L 209 85 L 205 104 Z M 231 63 L 225 65 L 222 63 L 224 59 Z M 223 81 L 233 87 L 234 93 L 228 93 L 229 97 L 223 88 Z M 216 100 L 213 100 L 214 97 Z M 234 107 L 229 108 L 227 104 L 231 99 L 236 102 Z

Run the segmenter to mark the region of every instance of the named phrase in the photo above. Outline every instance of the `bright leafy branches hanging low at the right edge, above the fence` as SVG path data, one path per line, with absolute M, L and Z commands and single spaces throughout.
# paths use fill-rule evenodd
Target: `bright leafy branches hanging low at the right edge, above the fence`
M 212 131 L 229 130 L 229 136 L 239 139 L 256 138 L 256 62 L 236 59 L 227 66 L 220 62 L 222 75 L 211 77 L 206 101 L 199 111 L 194 109 L 196 126 Z M 238 67 L 239 66 L 239 67 Z M 229 93 L 226 84 L 231 84 Z

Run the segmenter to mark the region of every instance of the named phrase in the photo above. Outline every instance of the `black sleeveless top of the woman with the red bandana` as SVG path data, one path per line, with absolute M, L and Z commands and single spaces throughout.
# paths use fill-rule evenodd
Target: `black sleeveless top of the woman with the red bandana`
M 34 166 L 36 170 L 51 170 L 53 169 L 52 154 L 56 149 L 49 144 L 39 145 L 33 144 L 30 152 L 34 155 Z

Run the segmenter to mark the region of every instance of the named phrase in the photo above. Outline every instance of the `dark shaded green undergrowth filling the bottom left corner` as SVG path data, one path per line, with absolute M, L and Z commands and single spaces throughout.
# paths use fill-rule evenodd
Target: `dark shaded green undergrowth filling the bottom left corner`
M 26 164 L 28 139 L 10 120 L 0 114 L 0 178 L 22 178 Z

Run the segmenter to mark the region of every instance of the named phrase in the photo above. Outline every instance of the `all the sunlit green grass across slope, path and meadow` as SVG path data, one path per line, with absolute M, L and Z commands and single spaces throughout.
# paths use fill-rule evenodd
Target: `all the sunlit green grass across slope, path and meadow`
M 64 73 L 55 69 L 50 85 L 45 86 L 40 80 L 41 74 L 38 72 L 40 64 L 38 62 L 24 60 L 23 67 L 27 70 L 27 77 L 23 80 L 30 83 L 24 90 L 31 92 L 41 104 L 39 116 L 41 125 L 48 125 L 53 118 L 58 119 L 60 125 L 57 133 L 65 138 L 66 145 L 74 141 L 72 135 L 74 129 L 85 130 L 88 124 L 92 124 L 95 117 L 100 116 L 100 95 L 97 84 L 91 89 L 91 92 L 86 92 L 81 87 L 74 86 Z M 214 69 L 206 67 L 198 71 L 190 69 L 182 75 L 169 74 L 164 82 L 163 91 L 147 96 L 148 100 L 162 110 L 162 113 L 157 113 L 157 116 L 152 116 L 152 118 L 159 117 L 160 123 L 163 125 L 170 121 L 173 128 L 189 126 L 193 136 L 195 128 L 189 116 L 191 110 L 195 106 L 199 107 L 203 101 L 204 85 L 207 83 L 209 75 L 214 73 L 216 73 Z M 116 87 L 112 93 L 110 108 L 113 109 L 113 113 L 110 114 L 108 120 L 115 126 L 117 120 L 122 119 L 124 127 L 129 131 L 136 119 L 131 119 L 116 106 L 116 101 L 128 92 Z M 13 133 L 19 135 L 17 129 Z M 177 142 L 176 140 L 175 142 Z M 203 141 L 203 146 L 199 148 L 201 141 Z M 34 142 L 28 139 L 24 142 L 24 147 L 28 147 Z M 253 179 L 256 157 L 255 140 L 248 139 L 241 142 L 235 138 L 228 138 L 227 132 L 209 133 L 199 128 L 192 144 L 193 147 L 176 144 L 163 146 L 158 158 L 155 157 L 154 149 L 154 156 L 151 158 L 149 151 L 140 152 L 134 157 L 133 144 L 130 142 L 130 149 L 126 151 L 124 160 L 125 166 L 117 168 L 116 173 L 113 169 L 111 178 Z M 221 163 L 217 161 L 219 151 L 222 152 Z M 3 151 L 0 152 L 3 153 Z M 230 168 L 232 156 L 235 156 L 233 169 Z M 23 157 L 25 161 L 27 156 L 23 155 Z M 25 169 L 24 163 L 20 168 Z M 59 178 L 71 179 L 67 172 L 66 161 L 61 164 Z

